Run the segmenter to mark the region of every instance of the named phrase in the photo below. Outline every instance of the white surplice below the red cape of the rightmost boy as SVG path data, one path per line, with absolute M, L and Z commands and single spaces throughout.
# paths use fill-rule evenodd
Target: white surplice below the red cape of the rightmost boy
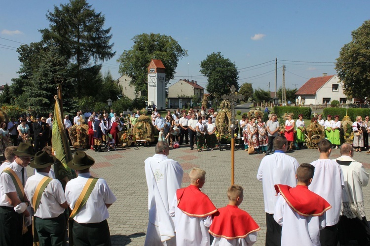
M 326 226 L 325 213 L 321 216 L 302 216 L 293 211 L 279 194 L 274 219 L 283 226 L 282 246 L 320 246 L 320 230 Z

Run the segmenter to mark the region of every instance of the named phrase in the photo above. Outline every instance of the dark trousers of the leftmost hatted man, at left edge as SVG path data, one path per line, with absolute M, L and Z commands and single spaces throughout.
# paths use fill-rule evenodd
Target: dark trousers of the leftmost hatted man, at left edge
M 23 214 L 14 208 L 0 207 L 0 246 L 24 245 L 22 240 Z

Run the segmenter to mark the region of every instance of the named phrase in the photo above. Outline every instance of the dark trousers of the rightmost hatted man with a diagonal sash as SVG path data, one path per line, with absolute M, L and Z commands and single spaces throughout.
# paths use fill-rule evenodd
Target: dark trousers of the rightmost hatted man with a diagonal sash
M 100 223 L 73 223 L 73 242 L 75 246 L 111 246 L 108 221 Z

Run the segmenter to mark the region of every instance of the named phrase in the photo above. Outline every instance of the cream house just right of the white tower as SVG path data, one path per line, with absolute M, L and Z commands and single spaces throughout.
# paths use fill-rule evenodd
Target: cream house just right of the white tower
M 198 95 L 200 102 L 203 100 L 204 88 L 194 80 L 180 79 L 168 87 L 168 107 L 183 108 L 192 105 L 192 98 Z

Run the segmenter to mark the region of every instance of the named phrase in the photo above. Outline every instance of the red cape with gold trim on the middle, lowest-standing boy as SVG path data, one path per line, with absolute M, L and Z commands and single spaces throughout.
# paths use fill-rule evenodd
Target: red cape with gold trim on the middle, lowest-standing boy
M 256 221 L 238 206 L 227 205 L 213 215 L 209 233 L 225 239 L 245 238 L 252 232 L 260 230 Z

